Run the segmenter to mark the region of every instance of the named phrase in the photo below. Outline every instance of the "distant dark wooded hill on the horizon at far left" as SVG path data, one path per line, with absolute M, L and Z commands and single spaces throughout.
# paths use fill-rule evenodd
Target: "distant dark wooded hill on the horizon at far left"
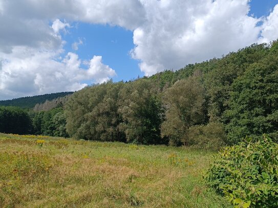
M 47 100 L 53 100 L 71 94 L 73 94 L 73 92 L 68 91 L 63 93 L 52 93 L 32 97 L 16 98 L 12 100 L 3 100 L 0 101 L 0 106 L 17 106 L 21 108 L 33 108 L 36 104 L 45 103 Z

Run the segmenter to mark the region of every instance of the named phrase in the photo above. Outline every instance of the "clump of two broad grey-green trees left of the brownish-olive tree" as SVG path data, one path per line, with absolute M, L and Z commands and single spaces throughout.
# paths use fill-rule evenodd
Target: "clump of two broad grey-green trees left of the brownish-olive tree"
M 67 102 L 67 131 L 87 140 L 160 143 L 161 101 L 151 81 L 107 82 Z

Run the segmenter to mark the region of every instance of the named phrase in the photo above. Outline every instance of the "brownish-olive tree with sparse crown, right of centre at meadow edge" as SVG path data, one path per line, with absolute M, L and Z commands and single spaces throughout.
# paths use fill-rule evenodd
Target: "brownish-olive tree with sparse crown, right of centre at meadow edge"
M 169 137 L 171 145 L 188 145 L 188 129 L 204 119 L 204 88 L 197 77 L 177 81 L 165 91 L 166 120 L 162 136 Z

